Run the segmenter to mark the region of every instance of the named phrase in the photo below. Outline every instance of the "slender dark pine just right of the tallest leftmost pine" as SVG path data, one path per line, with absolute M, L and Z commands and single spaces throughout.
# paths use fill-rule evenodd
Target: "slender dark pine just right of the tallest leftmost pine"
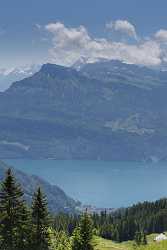
M 47 201 L 40 188 L 34 194 L 32 203 L 32 223 L 33 223 L 33 243 L 34 250 L 47 250 L 50 245 L 50 237 L 48 233 L 49 219 L 48 219 Z

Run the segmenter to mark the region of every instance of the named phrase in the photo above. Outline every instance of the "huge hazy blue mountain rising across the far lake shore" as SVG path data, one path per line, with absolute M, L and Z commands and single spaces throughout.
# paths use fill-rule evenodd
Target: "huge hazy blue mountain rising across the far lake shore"
M 3 158 L 164 160 L 167 72 L 46 64 L 0 94 Z

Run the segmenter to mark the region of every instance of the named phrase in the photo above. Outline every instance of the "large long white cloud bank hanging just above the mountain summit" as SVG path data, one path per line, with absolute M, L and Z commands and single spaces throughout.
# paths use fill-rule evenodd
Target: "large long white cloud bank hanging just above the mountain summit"
M 91 62 L 98 58 L 118 59 L 146 66 L 160 65 L 162 61 L 160 43 L 153 39 L 132 45 L 92 38 L 84 26 L 71 28 L 60 22 L 50 23 L 45 29 L 52 35 L 50 61 L 53 63 L 70 66 L 84 57 Z

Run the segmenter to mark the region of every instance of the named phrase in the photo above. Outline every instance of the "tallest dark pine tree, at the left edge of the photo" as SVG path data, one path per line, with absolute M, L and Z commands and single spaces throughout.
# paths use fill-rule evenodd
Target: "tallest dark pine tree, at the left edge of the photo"
M 23 192 L 11 169 L 1 184 L 0 191 L 0 235 L 2 250 L 28 249 L 29 214 L 23 199 Z

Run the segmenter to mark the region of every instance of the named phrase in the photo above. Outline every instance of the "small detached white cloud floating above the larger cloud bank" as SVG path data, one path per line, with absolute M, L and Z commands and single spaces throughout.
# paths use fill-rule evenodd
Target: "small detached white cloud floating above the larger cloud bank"
M 137 40 L 137 33 L 136 33 L 135 26 L 131 24 L 130 22 L 128 22 L 127 20 L 117 20 L 114 22 L 111 21 L 106 24 L 106 27 L 108 29 L 119 31 Z

